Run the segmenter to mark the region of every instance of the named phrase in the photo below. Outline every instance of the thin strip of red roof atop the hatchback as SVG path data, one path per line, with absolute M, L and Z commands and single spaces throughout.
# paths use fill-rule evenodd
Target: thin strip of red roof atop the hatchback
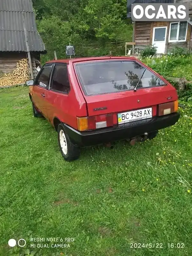
M 86 58 L 73 58 L 73 59 L 62 59 L 62 60 L 50 60 L 48 63 L 75 63 L 75 62 L 84 62 L 92 60 L 138 60 L 135 57 L 126 57 L 126 56 L 104 56 L 104 57 L 86 57 Z

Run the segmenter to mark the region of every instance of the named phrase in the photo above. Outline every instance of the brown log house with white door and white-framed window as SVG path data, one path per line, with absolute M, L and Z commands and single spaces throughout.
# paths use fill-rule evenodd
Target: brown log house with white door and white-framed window
M 133 22 L 133 38 L 135 47 L 140 49 L 154 45 L 157 53 L 168 53 L 175 45 L 192 49 L 192 0 L 128 0 L 127 17 L 131 17 L 131 4 L 135 3 L 188 3 L 188 21 L 136 21 Z

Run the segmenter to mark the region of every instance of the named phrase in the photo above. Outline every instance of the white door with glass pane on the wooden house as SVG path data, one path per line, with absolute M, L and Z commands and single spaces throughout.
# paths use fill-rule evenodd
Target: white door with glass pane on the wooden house
M 152 44 L 157 47 L 157 53 L 165 53 L 167 27 L 153 28 Z

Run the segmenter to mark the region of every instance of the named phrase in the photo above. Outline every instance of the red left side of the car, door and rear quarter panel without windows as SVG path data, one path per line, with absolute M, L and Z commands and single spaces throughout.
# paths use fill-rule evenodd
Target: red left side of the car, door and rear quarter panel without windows
M 66 63 L 65 61 L 57 61 L 57 63 L 58 62 Z M 52 126 L 54 126 L 54 118 L 57 118 L 61 122 L 67 123 L 69 126 L 76 129 L 76 116 L 87 115 L 86 102 L 77 83 L 76 76 L 74 75 L 74 69 L 71 70 L 70 67 L 68 67 L 68 77 L 70 85 L 75 85 L 70 86 L 69 94 L 46 90 L 38 85 L 33 86 L 31 94 L 36 107 L 39 110 L 44 109 L 44 112 L 41 112 Z M 40 94 L 43 92 L 45 97 L 41 99 Z M 41 104 L 39 104 L 40 100 L 42 100 Z

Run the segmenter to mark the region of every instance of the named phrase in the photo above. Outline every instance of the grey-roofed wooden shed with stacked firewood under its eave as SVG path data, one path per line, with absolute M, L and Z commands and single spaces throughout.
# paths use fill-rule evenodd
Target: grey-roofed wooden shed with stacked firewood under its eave
M 0 85 L 34 78 L 40 54 L 46 50 L 36 28 L 32 1 L 0 0 L 0 19 Z

